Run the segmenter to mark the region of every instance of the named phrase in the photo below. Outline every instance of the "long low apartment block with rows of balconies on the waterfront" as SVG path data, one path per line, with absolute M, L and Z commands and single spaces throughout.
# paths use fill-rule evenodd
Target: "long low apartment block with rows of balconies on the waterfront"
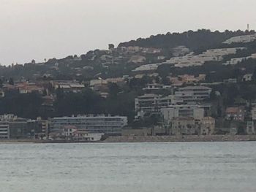
M 105 115 L 83 115 L 50 120 L 50 131 L 58 132 L 66 126 L 75 126 L 78 130 L 89 133 L 121 135 L 121 129 L 127 126 L 127 117 Z

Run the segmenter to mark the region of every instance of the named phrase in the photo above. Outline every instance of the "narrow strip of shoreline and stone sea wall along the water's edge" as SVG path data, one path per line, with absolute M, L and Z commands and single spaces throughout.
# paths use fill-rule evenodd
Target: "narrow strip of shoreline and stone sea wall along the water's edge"
M 35 139 L 0 139 L 1 144 L 69 144 L 69 143 L 117 143 L 117 142 L 255 142 L 256 135 L 206 135 L 206 136 L 134 136 L 134 137 L 108 137 L 103 141 L 47 141 Z

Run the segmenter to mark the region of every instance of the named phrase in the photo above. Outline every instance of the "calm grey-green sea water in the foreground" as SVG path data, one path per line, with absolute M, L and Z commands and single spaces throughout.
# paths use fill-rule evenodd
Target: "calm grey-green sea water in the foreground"
M 256 191 L 255 151 L 256 142 L 0 144 L 0 191 Z

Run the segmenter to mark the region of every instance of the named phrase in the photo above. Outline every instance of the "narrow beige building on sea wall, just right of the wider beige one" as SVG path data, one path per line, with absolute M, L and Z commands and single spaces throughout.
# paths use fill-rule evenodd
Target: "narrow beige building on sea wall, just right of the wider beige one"
M 211 117 L 205 117 L 200 120 L 200 134 L 211 135 L 214 134 L 215 119 Z

